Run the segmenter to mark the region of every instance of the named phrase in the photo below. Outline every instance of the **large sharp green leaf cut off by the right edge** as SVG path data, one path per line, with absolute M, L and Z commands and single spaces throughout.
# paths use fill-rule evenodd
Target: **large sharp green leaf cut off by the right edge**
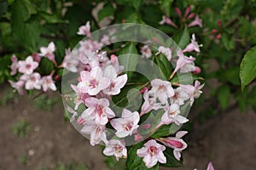
M 247 51 L 240 65 L 241 90 L 256 77 L 256 46 Z

